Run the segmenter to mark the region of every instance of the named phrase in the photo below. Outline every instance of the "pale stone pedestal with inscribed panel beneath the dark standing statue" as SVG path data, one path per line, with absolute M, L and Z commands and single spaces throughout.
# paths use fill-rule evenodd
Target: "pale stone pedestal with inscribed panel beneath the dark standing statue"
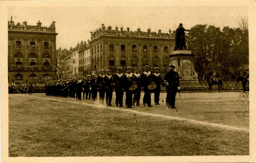
M 171 52 L 171 64 L 175 65 L 174 71 L 180 76 L 180 83 L 198 83 L 198 75 L 194 68 L 194 56 L 190 50 L 176 50 Z

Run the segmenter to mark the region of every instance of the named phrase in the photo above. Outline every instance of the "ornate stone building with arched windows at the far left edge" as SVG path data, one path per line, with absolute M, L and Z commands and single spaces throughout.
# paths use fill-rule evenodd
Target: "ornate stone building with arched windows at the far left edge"
M 44 83 L 56 78 L 55 22 L 49 27 L 8 21 L 8 82 Z

